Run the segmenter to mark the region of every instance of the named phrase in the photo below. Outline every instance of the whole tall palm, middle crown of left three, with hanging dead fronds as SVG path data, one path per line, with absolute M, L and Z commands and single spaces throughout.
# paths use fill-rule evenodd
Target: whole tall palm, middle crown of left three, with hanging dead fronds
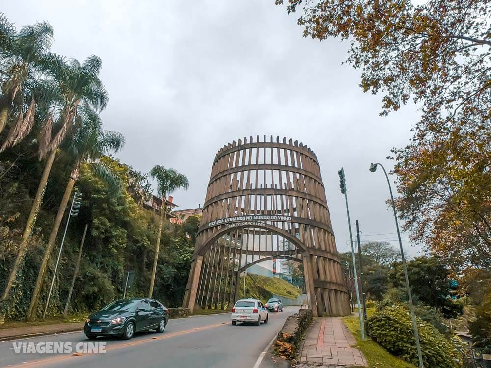
M 10 275 L 5 284 L 0 302 L 8 298 L 10 289 L 14 285 L 17 272 L 27 250 L 27 241 L 41 207 L 44 190 L 48 183 L 56 152 L 67 133 L 73 130 L 79 107 L 89 106 L 96 111 L 101 111 L 108 103 L 108 94 L 98 77 L 101 65 L 100 58 L 90 56 L 82 65 L 77 60 L 72 60 L 70 63 L 61 64 L 57 70 L 58 74 L 55 75 L 55 78 L 58 82 L 61 104 L 54 106 L 52 113 L 47 115 L 39 142 L 40 157 L 45 158 L 47 156 L 48 158 L 46 159 L 41 181 L 39 182 L 29 217 L 27 218 L 21 244 L 10 270 Z M 55 131 L 55 134 L 53 134 L 53 131 Z M 4 321 L 5 313 L 2 313 L 0 314 L 0 324 L 4 323 Z

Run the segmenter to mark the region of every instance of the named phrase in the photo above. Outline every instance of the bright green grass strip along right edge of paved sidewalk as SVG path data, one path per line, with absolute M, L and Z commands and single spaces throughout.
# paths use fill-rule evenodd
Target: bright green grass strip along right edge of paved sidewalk
M 370 315 L 370 312 L 370 309 L 367 308 L 368 315 Z M 346 324 L 346 327 L 348 327 L 355 336 L 358 348 L 365 355 L 370 368 L 416 368 L 416 366 L 391 355 L 387 350 L 370 338 L 367 338 L 366 341 L 362 341 L 360 335 L 360 322 L 357 315 L 344 317 L 343 321 Z

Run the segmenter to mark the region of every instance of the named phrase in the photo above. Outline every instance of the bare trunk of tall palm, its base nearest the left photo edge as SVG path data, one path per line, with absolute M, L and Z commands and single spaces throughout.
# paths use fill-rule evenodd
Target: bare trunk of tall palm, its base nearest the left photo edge
M 17 252 L 17 257 L 12 264 L 12 269 L 10 270 L 10 275 L 8 277 L 7 283 L 5 284 L 5 290 L 3 291 L 3 295 L 1 297 L 1 301 L 5 301 L 8 298 L 8 293 L 12 286 L 15 283 L 15 279 L 17 277 L 17 272 L 19 271 L 19 267 L 24 260 L 24 255 L 27 250 L 27 241 L 32 232 L 32 228 L 36 222 L 36 217 L 41 207 L 41 203 L 43 202 L 44 191 L 46 189 L 46 184 L 48 184 L 48 178 L 50 176 L 51 167 L 53 166 L 53 161 L 55 160 L 56 150 L 53 150 L 46 161 L 46 165 L 44 166 L 43 175 L 41 176 L 41 181 L 37 187 L 36 196 L 34 197 L 34 202 L 32 202 L 32 207 L 29 213 L 29 217 L 27 219 L 26 228 L 24 229 L 24 233 L 22 234 L 21 245 L 19 246 L 19 251 Z M 0 324 L 5 322 L 6 312 L 2 312 L 0 314 Z

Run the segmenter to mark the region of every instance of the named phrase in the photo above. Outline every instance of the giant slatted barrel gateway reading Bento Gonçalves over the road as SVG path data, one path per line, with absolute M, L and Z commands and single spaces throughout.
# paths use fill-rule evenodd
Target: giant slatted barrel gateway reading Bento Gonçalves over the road
M 291 139 L 239 139 L 213 161 L 183 305 L 231 308 L 241 272 L 273 259 L 303 264 L 315 316 L 350 314 L 316 155 Z

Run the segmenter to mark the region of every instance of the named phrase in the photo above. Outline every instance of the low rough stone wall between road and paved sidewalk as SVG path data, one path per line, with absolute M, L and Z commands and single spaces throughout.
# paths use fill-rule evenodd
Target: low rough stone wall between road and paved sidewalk
M 281 358 L 296 359 L 302 335 L 312 324 L 312 320 L 312 311 L 309 309 L 300 309 L 298 313 L 290 315 L 278 333 L 275 353 Z

